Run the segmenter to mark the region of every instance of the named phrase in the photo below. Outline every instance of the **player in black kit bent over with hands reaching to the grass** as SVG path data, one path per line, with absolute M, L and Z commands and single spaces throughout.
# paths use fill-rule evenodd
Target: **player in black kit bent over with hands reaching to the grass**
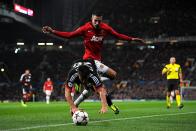
M 106 89 L 103 87 L 102 81 L 99 79 L 93 62 L 94 61 L 91 60 L 77 61 L 74 63 L 69 72 L 69 76 L 66 81 L 65 97 L 71 107 L 72 112 L 78 110 L 78 105 L 90 95 L 91 91 L 97 92 L 101 98 L 102 108 L 100 113 L 107 112 L 107 104 L 108 106 L 113 105 L 111 99 L 107 95 Z M 71 97 L 71 89 L 74 88 L 75 84 L 82 84 L 85 89 L 82 91 L 80 96 L 73 101 Z M 117 110 L 118 109 L 115 111 Z M 118 113 L 115 112 L 115 114 Z

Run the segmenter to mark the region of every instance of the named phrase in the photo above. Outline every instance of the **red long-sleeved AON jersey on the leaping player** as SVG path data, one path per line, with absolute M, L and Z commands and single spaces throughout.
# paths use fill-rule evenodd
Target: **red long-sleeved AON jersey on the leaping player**
M 132 40 L 133 38 L 116 32 L 112 27 L 103 22 L 100 23 L 99 27 L 99 29 L 95 29 L 91 22 L 88 22 L 73 32 L 54 31 L 54 34 L 65 38 L 83 36 L 85 46 L 83 59 L 92 58 L 99 61 L 101 61 L 103 40 L 108 34 L 123 40 Z

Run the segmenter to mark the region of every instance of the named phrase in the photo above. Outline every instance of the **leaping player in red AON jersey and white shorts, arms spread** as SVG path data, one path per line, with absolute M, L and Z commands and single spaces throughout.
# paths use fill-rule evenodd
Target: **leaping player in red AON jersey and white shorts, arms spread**
M 82 36 L 84 39 L 83 43 L 85 46 L 85 53 L 83 55 L 83 59 L 93 59 L 97 66 L 98 72 L 106 74 L 107 77 L 109 77 L 110 79 L 114 79 L 117 73 L 113 69 L 101 63 L 101 49 L 105 37 L 111 34 L 122 40 L 143 42 L 143 40 L 140 38 L 127 36 L 116 32 L 108 24 L 102 22 L 102 15 L 99 13 L 93 13 L 90 22 L 87 22 L 86 24 L 72 32 L 57 31 L 49 26 L 44 26 L 42 31 L 44 33 L 52 33 L 64 38 Z

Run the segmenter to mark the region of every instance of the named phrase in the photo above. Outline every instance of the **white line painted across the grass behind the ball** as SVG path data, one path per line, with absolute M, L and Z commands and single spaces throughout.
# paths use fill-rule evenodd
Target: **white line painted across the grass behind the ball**
M 149 115 L 149 116 L 117 118 L 117 119 L 92 121 L 89 123 L 101 123 L 101 122 L 121 121 L 121 120 L 134 120 L 134 119 L 141 119 L 141 118 L 152 118 L 152 117 L 160 117 L 160 116 L 176 116 L 176 115 L 187 115 L 187 114 L 196 114 L 196 112 L 184 112 L 184 113 L 174 113 L 174 114 L 158 114 L 158 115 Z M 73 125 L 73 123 L 55 124 L 55 125 L 41 125 L 41 126 L 24 127 L 24 128 L 18 128 L 18 129 L 16 129 L 16 128 L 15 129 L 6 129 L 6 130 L 0 130 L 0 131 L 22 131 L 22 130 L 30 130 L 30 129 L 37 129 L 37 128 L 59 127 L 59 126 L 66 126 L 66 125 Z

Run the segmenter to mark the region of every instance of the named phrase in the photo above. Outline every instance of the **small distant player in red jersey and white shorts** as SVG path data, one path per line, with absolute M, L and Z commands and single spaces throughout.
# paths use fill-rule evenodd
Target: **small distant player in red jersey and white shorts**
M 43 92 L 46 94 L 46 103 L 50 103 L 50 96 L 53 91 L 53 82 L 50 78 L 47 78 L 47 80 L 44 82 L 43 86 Z

